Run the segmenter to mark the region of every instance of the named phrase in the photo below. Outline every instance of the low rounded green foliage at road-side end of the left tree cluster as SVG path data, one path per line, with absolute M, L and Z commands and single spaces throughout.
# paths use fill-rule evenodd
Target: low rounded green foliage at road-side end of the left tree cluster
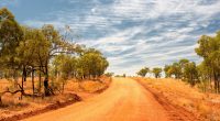
M 55 75 L 59 75 L 66 80 L 69 77 L 90 78 L 101 76 L 108 67 L 108 62 L 103 55 L 89 48 L 81 56 L 59 54 L 53 61 Z

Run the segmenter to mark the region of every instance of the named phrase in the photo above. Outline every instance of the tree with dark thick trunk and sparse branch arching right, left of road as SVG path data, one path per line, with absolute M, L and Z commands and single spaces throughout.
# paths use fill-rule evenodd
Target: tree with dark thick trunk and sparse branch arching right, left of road
M 53 25 L 47 24 L 44 25 L 42 29 L 42 33 L 45 37 L 45 50 L 38 50 L 38 64 L 41 70 L 43 72 L 45 79 L 44 79 L 44 90 L 45 96 L 50 96 L 50 88 L 48 88 L 48 65 L 50 61 L 56 56 L 57 54 L 65 53 L 65 54 L 76 54 L 81 53 L 81 47 L 75 43 L 68 42 L 65 36 L 62 36 L 57 30 L 54 29 Z

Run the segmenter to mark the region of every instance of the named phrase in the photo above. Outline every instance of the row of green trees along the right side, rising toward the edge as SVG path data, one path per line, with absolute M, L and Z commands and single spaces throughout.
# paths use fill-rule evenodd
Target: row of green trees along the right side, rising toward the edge
M 220 31 L 216 36 L 202 35 L 198 40 L 198 47 L 195 48 L 197 55 L 202 57 L 200 64 L 183 58 L 162 68 L 153 68 L 155 77 L 161 77 L 164 70 L 165 77 L 174 77 L 189 82 L 191 86 L 197 85 L 204 91 L 220 92 Z M 138 75 L 145 77 L 150 68 L 144 67 Z

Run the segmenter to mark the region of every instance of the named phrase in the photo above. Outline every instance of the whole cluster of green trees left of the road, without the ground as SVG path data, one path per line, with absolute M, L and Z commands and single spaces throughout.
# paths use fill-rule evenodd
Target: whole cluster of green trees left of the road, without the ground
M 99 51 L 70 42 L 52 24 L 40 29 L 21 26 L 7 8 L 0 9 L 0 64 L 1 77 L 15 78 L 22 74 L 22 90 L 31 73 L 38 74 L 38 87 L 43 76 L 46 96 L 51 91 L 48 79 L 56 80 L 50 78 L 50 75 L 58 76 L 64 89 L 68 78 L 99 77 L 109 66 Z M 54 82 L 51 81 L 51 85 Z M 34 92 L 34 78 L 32 84 Z

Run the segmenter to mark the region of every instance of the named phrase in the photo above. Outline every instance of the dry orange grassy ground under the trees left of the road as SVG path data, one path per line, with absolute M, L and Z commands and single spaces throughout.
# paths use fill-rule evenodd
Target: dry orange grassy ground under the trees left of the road
M 42 79 L 43 80 L 43 79 Z M 21 81 L 21 79 L 20 79 Z M 37 78 L 35 79 L 35 87 L 37 88 Z M 43 82 L 42 82 L 43 84 Z M 2 96 L 3 105 L 0 106 L 0 120 L 2 118 L 8 118 L 12 116 L 22 114 L 25 112 L 32 112 L 34 110 L 41 110 L 46 108 L 50 105 L 57 103 L 57 102 L 66 102 L 66 101 L 74 101 L 73 94 L 77 94 L 79 97 L 88 98 L 94 95 L 97 90 L 107 88 L 110 84 L 110 78 L 101 77 L 99 81 L 94 80 L 67 80 L 65 85 L 64 94 L 59 94 L 52 97 L 23 97 L 20 100 L 21 94 L 7 94 Z M 7 79 L 0 79 L 0 92 L 4 91 L 6 88 L 13 88 L 13 82 Z M 32 94 L 32 84 L 31 78 L 28 78 L 26 82 L 24 84 L 25 92 Z

